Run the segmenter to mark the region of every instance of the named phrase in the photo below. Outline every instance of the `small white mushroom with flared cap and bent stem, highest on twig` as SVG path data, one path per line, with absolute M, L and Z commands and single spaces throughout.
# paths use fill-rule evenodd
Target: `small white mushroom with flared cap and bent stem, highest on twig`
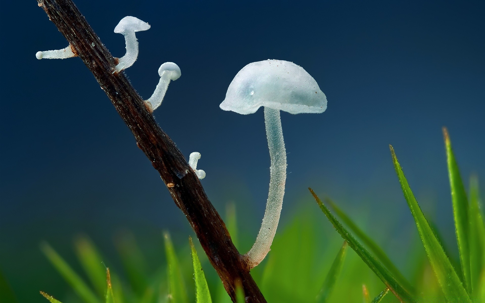
M 136 17 L 126 16 L 116 25 L 114 32 L 121 33 L 125 36 L 126 54 L 119 58 L 118 64 L 113 73 L 119 73 L 121 70 L 130 67 L 135 63 L 138 57 L 138 40 L 135 32 L 146 31 L 150 25 Z

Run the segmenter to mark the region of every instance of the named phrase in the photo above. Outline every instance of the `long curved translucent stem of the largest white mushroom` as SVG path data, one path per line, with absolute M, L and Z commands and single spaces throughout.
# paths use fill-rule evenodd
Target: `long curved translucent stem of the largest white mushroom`
M 279 110 L 265 107 L 264 122 L 271 158 L 270 189 L 258 237 L 251 250 L 244 255 L 250 269 L 256 267 L 270 251 L 285 194 L 286 149 Z

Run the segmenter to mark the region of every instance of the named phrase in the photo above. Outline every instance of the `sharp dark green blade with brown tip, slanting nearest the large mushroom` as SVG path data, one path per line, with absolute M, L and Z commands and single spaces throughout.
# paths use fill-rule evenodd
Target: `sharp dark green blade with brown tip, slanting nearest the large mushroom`
M 317 201 L 320 209 L 322 209 L 325 216 L 330 223 L 339 232 L 340 236 L 349 243 L 349 246 L 357 253 L 357 255 L 364 261 L 367 266 L 381 279 L 384 284 L 389 287 L 389 290 L 401 301 L 416 302 L 416 300 L 409 294 L 405 288 L 398 283 L 398 281 L 389 273 L 389 271 L 377 261 L 369 252 L 347 231 L 345 227 L 335 218 L 330 210 L 323 205 L 322 200 L 315 194 L 315 192 L 308 188 Z

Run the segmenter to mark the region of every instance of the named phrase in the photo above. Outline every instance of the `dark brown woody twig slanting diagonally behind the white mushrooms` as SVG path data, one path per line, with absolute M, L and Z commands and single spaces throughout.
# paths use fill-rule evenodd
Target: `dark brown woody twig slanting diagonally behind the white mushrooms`
M 112 73 L 115 59 L 78 8 L 71 0 L 38 2 L 65 36 L 74 53 L 91 70 L 116 111 L 133 132 L 138 147 L 160 173 L 175 204 L 189 220 L 232 301 L 235 302 L 235 285 L 240 283 L 246 302 L 266 302 L 194 171 L 172 140 L 157 125 L 123 72 Z

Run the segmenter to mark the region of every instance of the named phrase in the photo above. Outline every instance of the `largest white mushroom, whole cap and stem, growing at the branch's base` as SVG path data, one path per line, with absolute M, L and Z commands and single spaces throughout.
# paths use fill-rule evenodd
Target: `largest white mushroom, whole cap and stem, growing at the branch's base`
M 261 106 L 264 107 L 271 158 L 270 187 L 258 237 L 244 255 L 250 268 L 257 266 L 270 251 L 283 205 L 287 164 L 279 111 L 320 113 L 325 111 L 327 99 L 301 66 L 288 61 L 266 60 L 250 63 L 237 73 L 220 108 L 249 114 Z

